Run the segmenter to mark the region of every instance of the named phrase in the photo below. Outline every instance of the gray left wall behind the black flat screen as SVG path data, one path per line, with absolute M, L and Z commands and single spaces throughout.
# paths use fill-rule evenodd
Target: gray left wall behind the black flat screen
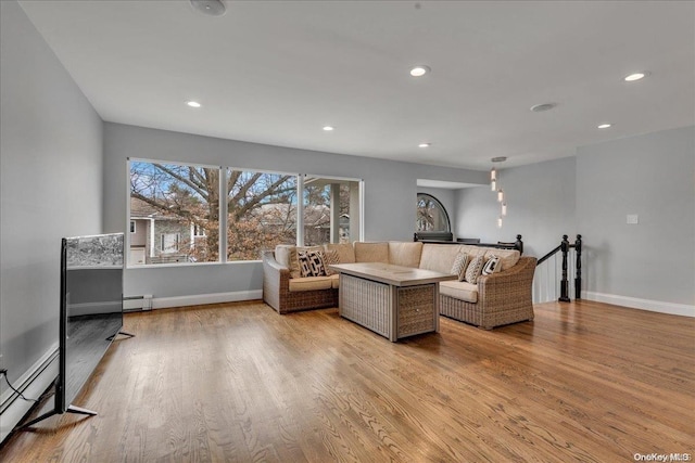
M 101 232 L 102 121 L 16 2 L 0 2 L 0 351 L 14 382 L 58 344 L 61 237 Z

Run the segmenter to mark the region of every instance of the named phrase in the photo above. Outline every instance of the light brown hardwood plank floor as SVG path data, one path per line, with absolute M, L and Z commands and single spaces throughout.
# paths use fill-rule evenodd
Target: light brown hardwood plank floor
M 390 343 L 336 309 L 126 316 L 65 414 L 3 462 L 631 462 L 695 458 L 695 319 L 544 304 Z

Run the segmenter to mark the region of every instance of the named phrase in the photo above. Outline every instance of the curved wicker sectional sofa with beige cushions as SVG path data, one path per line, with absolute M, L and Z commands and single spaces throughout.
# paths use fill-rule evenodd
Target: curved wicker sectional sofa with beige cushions
M 340 263 L 384 262 L 452 273 L 459 253 L 470 257 L 500 258 L 497 271 L 480 275 L 476 283 L 440 283 L 440 313 L 491 330 L 495 326 L 533 320 L 531 287 L 536 259 L 516 249 L 494 249 L 475 245 L 421 242 L 327 244 L 314 247 L 277 246 L 263 253 L 263 300 L 279 313 L 338 306 L 338 274 L 301 276 L 298 256 L 320 249 Z M 333 263 L 338 263 L 334 262 Z

